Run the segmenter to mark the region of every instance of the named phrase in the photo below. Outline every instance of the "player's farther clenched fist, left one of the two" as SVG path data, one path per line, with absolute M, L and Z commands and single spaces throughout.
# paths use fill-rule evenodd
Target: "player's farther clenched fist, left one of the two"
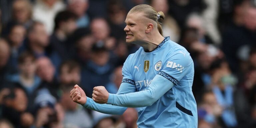
M 84 105 L 87 100 L 84 90 L 80 88 L 77 84 L 70 91 L 70 97 L 74 102 L 81 105 Z

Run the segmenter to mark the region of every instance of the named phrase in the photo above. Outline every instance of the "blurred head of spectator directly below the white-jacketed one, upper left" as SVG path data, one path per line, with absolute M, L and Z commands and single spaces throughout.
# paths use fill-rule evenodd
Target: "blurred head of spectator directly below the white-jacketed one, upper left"
M 34 22 L 28 30 L 27 47 L 36 58 L 47 56 L 46 47 L 49 44 L 48 34 L 45 26 L 41 22 Z

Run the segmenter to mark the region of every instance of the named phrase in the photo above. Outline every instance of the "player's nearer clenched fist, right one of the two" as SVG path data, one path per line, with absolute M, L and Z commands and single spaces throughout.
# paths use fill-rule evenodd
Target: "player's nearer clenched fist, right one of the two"
M 106 104 L 108 102 L 109 93 L 103 86 L 93 88 L 92 99 L 99 104 Z

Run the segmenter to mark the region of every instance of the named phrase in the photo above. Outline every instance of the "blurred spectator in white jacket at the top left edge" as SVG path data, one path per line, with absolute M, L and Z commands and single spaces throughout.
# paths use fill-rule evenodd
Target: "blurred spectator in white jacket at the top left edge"
M 33 19 L 45 24 L 47 34 L 51 35 L 54 28 L 55 15 L 65 9 L 62 0 L 36 0 L 33 7 Z

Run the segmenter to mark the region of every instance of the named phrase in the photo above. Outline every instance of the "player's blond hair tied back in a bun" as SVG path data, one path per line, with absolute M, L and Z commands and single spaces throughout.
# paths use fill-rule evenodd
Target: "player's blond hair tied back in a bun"
M 161 35 L 163 35 L 163 30 L 162 30 L 162 23 L 164 21 L 165 15 L 163 12 L 156 12 L 156 10 L 151 7 L 150 5 L 147 4 L 141 4 L 133 7 L 130 10 L 130 13 L 134 12 L 143 12 L 143 16 L 149 19 L 154 20 L 157 23 L 157 29 Z M 157 15 L 160 15 L 159 19 L 157 19 Z

